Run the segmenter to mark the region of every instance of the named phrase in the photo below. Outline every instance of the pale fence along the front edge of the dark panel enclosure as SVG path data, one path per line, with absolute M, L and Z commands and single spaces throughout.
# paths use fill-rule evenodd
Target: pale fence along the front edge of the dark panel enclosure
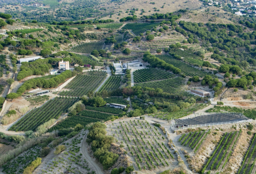
M 175 128 L 174 126 L 171 126 L 171 129 L 173 131 L 176 131 L 176 130 L 187 129 L 187 128 L 200 128 L 200 127 L 206 127 L 206 126 L 217 126 L 217 125 L 224 125 L 224 124 L 244 123 L 244 122 L 252 122 L 252 119 L 241 120 L 241 121 L 237 120 L 237 121 L 218 122 L 218 123 L 196 124 L 196 125 L 183 126 L 179 128 Z

